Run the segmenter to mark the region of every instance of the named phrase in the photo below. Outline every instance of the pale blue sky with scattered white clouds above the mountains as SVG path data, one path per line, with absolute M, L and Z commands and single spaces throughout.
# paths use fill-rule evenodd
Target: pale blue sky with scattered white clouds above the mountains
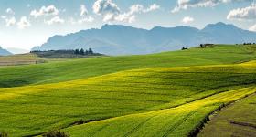
M 0 46 L 22 49 L 104 24 L 151 29 L 224 22 L 256 31 L 253 0 L 0 0 L 0 16 Z

